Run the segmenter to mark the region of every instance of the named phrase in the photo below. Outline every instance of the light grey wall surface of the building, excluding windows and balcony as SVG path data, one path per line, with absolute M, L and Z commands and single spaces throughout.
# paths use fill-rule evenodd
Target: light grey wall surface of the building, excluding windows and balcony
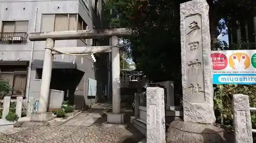
M 93 17 L 94 11 L 92 11 L 92 1 L 89 1 L 89 8 L 82 0 L 69 0 L 69 1 L 45 1 L 45 0 L 0 0 L 0 27 L 2 27 L 2 21 L 17 21 L 17 20 L 29 20 L 28 33 L 33 32 L 34 18 L 36 14 L 36 8 L 38 8 L 36 17 L 36 30 L 40 32 L 41 14 L 76 14 L 82 17 L 82 19 L 88 24 L 88 29 L 92 29 L 94 25 L 101 25 L 100 23 L 94 23 L 94 21 L 101 21 L 101 14 L 99 17 Z M 101 13 L 101 0 L 98 2 L 98 11 Z M 25 7 L 25 9 L 24 9 Z M 59 8 L 58 8 L 59 7 Z M 7 9 L 6 9 L 7 8 Z M 93 20 L 97 19 L 97 20 Z M 98 27 L 100 28 L 100 27 Z M 88 43 L 84 44 L 81 40 L 60 40 L 55 41 L 55 47 L 75 47 L 75 46 L 90 46 L 92 40 L 88 40 Z M 0 45 L 0 58 L 3 61 L 30 61 L 32 42 L 28 40 L 26 44 L 16 45 Z M 42 68 L 44 60 L 44 48 L 45 41 L 34 42 L 32 71 L 30 78 L 30 90 L 29 96 L 37 99 L 39 97 L 40 79 L 35 79 L 36 68 Z M 87 82 L 88 78 L 96 79 L 94 63 L 91 60 L 90 55 L 87 58 L 83 58 L 83 64 L 80 58 L 76 58 L 76 65 L 73 65 L 73 56 L 54 55 L 53 68 L 77 68 L 84 72 L 83 78 L 78 85 L 78 90 L 74 93 L 77 96 L 87 96 Z M 65 77 L 63 77 L 65 78 Z M 98 81 L 100 82 L 100 81 Z M 86 100 L 86 99 L 85 99 Z M 88 103 L 94 103 L 94 100 L 86 100 Z

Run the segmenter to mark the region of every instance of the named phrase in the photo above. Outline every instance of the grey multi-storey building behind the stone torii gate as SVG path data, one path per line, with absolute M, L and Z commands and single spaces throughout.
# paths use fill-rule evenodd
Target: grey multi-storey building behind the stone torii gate
M 31 42 L 32 32 L 102 28 L 103 0 L 0 0 L 0 77 L 9 81 L 12 97 L 39 98 L 45 41 Z M 108 44 L 96 39 L 59 40 L 55 47 Z M 51 105 L 69 100 L 79 106 L 97 102 L 109 85 L 109 53 L 81 59 L 54 55 Z M 31 65 L 30 65 L 31 64 Z M 97 80 L 97 96 L 88 96 L 89 79 Z M 78 106 L 78 105 L 77 105 Z

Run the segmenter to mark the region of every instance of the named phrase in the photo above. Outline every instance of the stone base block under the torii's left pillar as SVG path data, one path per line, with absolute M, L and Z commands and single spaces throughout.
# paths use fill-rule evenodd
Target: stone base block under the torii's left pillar
M 31 122 L 47 122 L 54 118 L 56 118 L 56 116 L 52 112 L 32 113 Z

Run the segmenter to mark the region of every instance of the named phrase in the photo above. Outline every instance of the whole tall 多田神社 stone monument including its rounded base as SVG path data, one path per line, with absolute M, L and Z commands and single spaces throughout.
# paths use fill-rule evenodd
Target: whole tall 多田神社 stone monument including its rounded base
M 233 142 L 214 125 L 214 89 L 210 58 L 209 6 L 206 0 L 180 5 L 183 118 L 170 124 L 166 141 Z M 224 137 L 227 137 L 228 140 Z

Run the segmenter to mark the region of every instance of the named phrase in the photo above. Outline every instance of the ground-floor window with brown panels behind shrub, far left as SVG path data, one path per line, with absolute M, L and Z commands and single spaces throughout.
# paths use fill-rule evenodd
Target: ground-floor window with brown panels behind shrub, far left
M 25 96 L 27 83 L 27 67 L 9 68 L 8 66 L 1 69 L 0 78 L 9 82 L 13 91 L 8 94 L 12 96 Z

